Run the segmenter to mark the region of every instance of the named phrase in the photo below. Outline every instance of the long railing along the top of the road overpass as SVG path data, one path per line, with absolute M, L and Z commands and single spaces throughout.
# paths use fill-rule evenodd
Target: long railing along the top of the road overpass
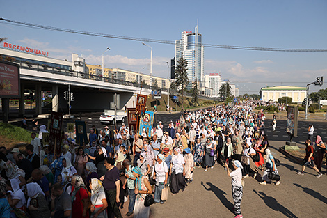
M 31 63 L 31 62 L 26 62 L 26 61 L 14 61 L 14 62 L 19 64 L 20 68 L 22 68 L 22 69 L 36 70 L 36 71 L 41 71 L 41 72 L 50 72 L 50 73 L 54 73 L 57 75 L 77 77 L 77 78 L 83 78 L 83 79 L 92 79 L 95 81 L 104 81 L 104 82 L 108 82 L 111 84 L 120 84 L 120 85 L 124 85 L 124 86 L 133 86 L 133 87 L 141 88 L 141 84 L 139 84 L 136 81 L 133 82 L 133 81 L 125 81 L 122 79 L 102 77 L 102 75 L 91 75 L 91 74 L 88 74 L 85 72 L 77 72 L 74 70 L 55 68 L 55 67 L 51 67 L 49 65 L 40 65 L 37 63 Z M 147 84 L 142 84 L 142 88 L 157 89 L 158 87 L 150 86 Z M 161 89 L 161 91 L 167 91 L 167 88 L 160 88 L 160 89 Z

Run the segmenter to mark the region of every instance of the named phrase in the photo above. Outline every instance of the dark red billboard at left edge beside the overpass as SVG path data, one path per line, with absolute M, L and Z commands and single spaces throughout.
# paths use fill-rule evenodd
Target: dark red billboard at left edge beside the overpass
M 0 61 L 0 98 L 19 98 L 19 65 Z

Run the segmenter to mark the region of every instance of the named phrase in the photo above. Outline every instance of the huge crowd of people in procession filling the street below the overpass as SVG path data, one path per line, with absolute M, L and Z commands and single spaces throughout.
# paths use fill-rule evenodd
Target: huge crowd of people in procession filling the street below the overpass
M 263 110 L 253 112 L 256 105 L 246 101 L 232 108 L 188 111 L 167 127 L 159 122 L 151 135 L 130 134 L 124 123 L 120 130 L 106 126 L 98 131 L 93 126 L 88 144 L 79 146 L 65 135 L 62 153 L 54 155 L 33 132 L 26 155 L 18 148 L 11 153 L 0 148 L 0 214 L 122 217 L 120 209 L 129 199 L 126 216 L 149 217 L 148 194 L 154 194 L 154 203 L 163 204 L 168 190 L 174 196 L 186 189 L 196 168 L 210 171 L 221 164 L 232 178 L 235 217 L 242 217 L 245 178 L 260 175 L 261 185 L 272 181 L 280 185 L 278 159 L 264 134 L 266 117 Z M 310 146 L 311 141 L 307 143 Z M 305 164 L 312 166 L 312 153 L 301 173 Z

